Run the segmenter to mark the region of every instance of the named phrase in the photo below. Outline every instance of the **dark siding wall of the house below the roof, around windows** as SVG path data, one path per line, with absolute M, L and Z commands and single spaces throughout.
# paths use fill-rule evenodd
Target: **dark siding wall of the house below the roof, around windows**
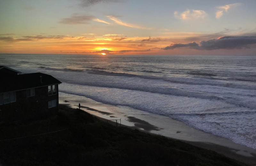
M 27 97 L 27 90 L 16 91 L 16 102 L 0 105 L 0 122 L 23 121 L 57 113 L 58 92 L 58 84 L 56 94 L 51 96 L 48 96 L 48 86 L 35 88 L 35 96 L 29 97 Z M 48 101 L 52 100 L 56 100 L 56 107 L 48 108 Z

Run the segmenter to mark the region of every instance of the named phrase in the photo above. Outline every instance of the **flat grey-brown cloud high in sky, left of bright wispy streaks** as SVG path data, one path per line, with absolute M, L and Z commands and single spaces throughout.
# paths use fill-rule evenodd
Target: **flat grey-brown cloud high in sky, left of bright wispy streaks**
M 89 24 L 88 21 L 91 21 L 94 19 L 94 16 L 92 15 L 79 15 L 79 14 L 72 14 L 70 18 L 64 18 L 61 19 L 59 23 L 62 24 Z

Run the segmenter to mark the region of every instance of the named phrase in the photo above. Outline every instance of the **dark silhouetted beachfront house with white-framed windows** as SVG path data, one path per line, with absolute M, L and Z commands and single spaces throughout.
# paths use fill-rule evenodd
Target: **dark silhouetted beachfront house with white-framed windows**
M 58 112 L 61 82 L 41 72 L 21 74 L 0 66 L 0 123 L 40 118 Z

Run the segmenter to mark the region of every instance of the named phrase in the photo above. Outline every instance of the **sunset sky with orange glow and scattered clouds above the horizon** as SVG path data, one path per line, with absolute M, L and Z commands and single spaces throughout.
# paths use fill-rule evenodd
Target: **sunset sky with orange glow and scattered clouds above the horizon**
M 0 53 L 256 55 L 256 0 L 0 0 Z

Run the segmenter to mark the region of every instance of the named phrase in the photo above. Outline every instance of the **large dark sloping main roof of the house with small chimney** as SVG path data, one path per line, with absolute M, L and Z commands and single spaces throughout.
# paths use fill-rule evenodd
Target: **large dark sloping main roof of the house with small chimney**
M 42 76 L 42 82 L 40 76 Z M 33 87 L 43 87 L 52 84 L 61 84 L 61 82 L 58 79 L 55 79 L 51 75 L 44 74 L 41 72 L 19 74 L 8 77 L 0 75 L 0 80 L 0 93 L 18 91 Z

